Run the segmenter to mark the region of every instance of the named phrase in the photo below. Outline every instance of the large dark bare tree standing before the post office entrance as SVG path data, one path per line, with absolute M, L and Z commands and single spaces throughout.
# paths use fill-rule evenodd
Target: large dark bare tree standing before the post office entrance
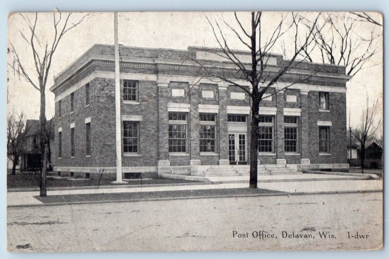
M 308 45 L 314 43 L 314 30 L 318 17 L 314 21 L 302 23 L 303 18 L 298 14 L 292 15 L 292 22 L 288 23 L 285 17 L 282 17 L 275 29 L 266 36 L 263 28 L 263 13 L 251 12 L 250 14 L 250 27 L 245 28 L 242 24 L 242 20 L 238 18 L 234 13 L 234 17 L 237 23 L 237 28 L 227 23 L 224 19 L 218 21 L 215 19 L 211 21 L 208 17 L 208 22 L 212 27 L 213 35 L 218 43 L 216 49 L 206 49 L 213 55 L 217 55 L 224 58 L 226 61 L 231 62 L 235 69 L 225 69 L 223 71 L 212 69 L 207 66 L 206 63 L 200 62 L 196 59 L 192 59 L 196 62 L 201 70 L 210 79 L 216 79 L 226 82 L 230 85 L 237 86 L 243 89 L 251 99 L 251 132 L 250 132 L 250 188 L 257 188 L 258 178 L 258 133 L 259 133 L 259 107 L 265 93 L 270 87 L 275 87 L 275 84 L 283 78 L 283 76 L 293 68 L 296 68 L 303 60 L 306 59 L 304 52 L 308 51 Z M 245 62 L 241 57 L 230 48 L 227 37 L 223 33 L 222 26 L 226 26 L 232 35 L 234 35 L 250 52 L 250 63 Z M 268 61 L 270 60 L 270 54 L 273 48 L 282 36 L 288 32 L 294 30 L 295 44 L 293 56 L 278 70 L 271 71 L 268 68 Z M 298 57 L 303 57 L 298 60 Z M 276 87 L 275 91 L 272 91 L 270 95 L 274 95 L 283 89 L 292 86 L 296 83 L 301 83 L 308 80 L 314 73 L 304 76 L 303 78 L 296 79 L 293 82 L 283 82 L 283 87 Z M 250 85 L 242 84 L 244 81 Z M 280 81 L 281 82 L 281 81 Z M 251 88 L 251 89 L 250 89 Z

